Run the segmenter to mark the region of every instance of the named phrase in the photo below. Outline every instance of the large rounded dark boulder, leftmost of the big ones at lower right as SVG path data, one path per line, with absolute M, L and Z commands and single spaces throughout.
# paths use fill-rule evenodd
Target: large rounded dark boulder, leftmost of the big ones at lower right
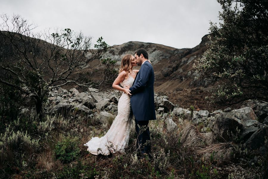
M 237 134 L 237 129 L 243 132 L 241 120 L 233 113 L 221 112 L 215 115 L 213 131 L 221 141 L 229 141 L 230 134 Z

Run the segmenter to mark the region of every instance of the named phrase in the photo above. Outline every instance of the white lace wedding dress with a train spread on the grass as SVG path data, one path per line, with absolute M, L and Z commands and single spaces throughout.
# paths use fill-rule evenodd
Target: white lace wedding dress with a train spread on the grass
M 134 78 L 129 75 L 129 77 L 120 84 L 122 87 L 126 85 L 131 87 L 133 82 Z M 130 127 L 133 119 L 133 115 L 130 115 L 130 110 L 130 95 L 123 92 L 118 101 L 118 115 L 107 133 L 101 138 L 93 137 L 84 144 L 84 146 L 88 146 L 87 150 L 91 154 L 109 155 L 110 152 L 125 152 L 124 149 L 128 145 Z

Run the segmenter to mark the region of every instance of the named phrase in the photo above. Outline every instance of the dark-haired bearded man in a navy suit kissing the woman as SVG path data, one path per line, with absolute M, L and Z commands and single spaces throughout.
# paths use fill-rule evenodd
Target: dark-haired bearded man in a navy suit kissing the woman
M 130 97 L 131 108 L 135 116 L 135 129 L 137 133 L 137 146 L 141 154 L 151 152 L 149 120 L 155 120 L 154 102 L 154 70 L 148 62 L 148 53 L 145 49 L 135 52 L 135 60 L 140 71 L 136 75 L 132 87 L 127 87 L 132 94 Z

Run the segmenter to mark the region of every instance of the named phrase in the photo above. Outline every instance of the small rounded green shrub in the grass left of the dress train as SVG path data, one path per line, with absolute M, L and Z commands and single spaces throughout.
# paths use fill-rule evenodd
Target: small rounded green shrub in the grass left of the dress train
M 80 149 L 77 145 L 77 138 L 71 138 L 70 136 L 63 138 L 55 146 L 55 155 L 57 159 L 60 159 L 63 163 L 69 163 L 78 158 Z

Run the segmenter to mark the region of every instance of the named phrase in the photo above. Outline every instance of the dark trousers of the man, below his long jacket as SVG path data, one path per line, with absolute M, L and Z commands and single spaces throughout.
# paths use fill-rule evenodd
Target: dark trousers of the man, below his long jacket
M 151 152 L 151 144 L 150 144 L 150 131 L 149 131 L 149 121 L 137 121 L 135 120 L 135 129 L 138 141 L 136 143 L 137 149 L 141 152 L 141 154 Z M 139 148 L 140 147 L 140 148 Z

